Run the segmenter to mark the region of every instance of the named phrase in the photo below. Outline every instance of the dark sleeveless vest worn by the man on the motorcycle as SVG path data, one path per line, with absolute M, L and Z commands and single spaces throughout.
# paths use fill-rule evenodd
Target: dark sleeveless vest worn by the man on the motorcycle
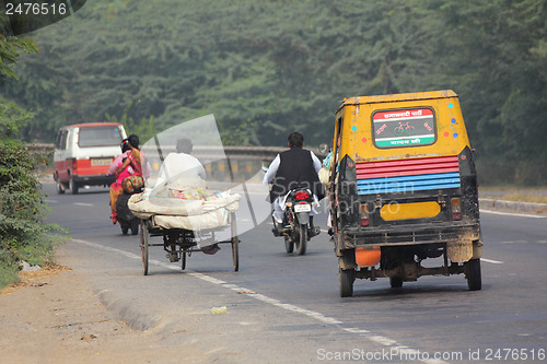
M 279 153 L 279 168 L 270 190 L 271 202 L 295 187 L 310 188 L 319 200 L 325 197 L 325 189 L 315 172 L 312 153 L 309 150 L 291 148 Z

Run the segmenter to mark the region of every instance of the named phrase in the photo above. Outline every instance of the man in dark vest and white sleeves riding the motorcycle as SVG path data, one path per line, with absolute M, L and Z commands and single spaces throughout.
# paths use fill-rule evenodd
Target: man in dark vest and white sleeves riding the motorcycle
M 270 190 L 270 202 L 274 203 L 272 216 L 277 222 L 272 232 L 279 234 L 277 225 L 283 224 L 283 211 L 281 209 L 281 199 L 293 188 L 309 188 L 317 200 L 325 197 L 325 189 L 319 181 L 317 173 L 321 171 L 322 163 L 317 156 L 310 150 L 303 149 L 304 137 L 300 132 L 289 134 L 289 150 L 279 153 L 271 162 L 268 172 L 264 176 L 263 184 L 272 183 Z M 315 209 L 310 214 L 310 227 L 314 232 L 313 215 Z M 318 230 L 317 230 L 318 231 Z

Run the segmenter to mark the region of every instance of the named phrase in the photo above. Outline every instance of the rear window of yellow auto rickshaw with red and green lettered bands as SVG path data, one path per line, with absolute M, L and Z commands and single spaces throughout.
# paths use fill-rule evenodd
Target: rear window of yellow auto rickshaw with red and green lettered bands
M 377 148 L 417 146 L 435 141 L 435 117 L 429 107 L 376 111 L 372 124 Z

